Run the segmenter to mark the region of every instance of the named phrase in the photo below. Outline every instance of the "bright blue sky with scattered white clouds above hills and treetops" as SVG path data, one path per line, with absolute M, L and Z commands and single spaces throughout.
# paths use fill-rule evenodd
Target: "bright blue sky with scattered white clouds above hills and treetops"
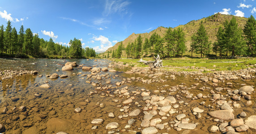
M 176 27 L 214 13 L 256 17 L 256 0 L 0 0 L 0 25 L 104 51 L 132 33 Z

